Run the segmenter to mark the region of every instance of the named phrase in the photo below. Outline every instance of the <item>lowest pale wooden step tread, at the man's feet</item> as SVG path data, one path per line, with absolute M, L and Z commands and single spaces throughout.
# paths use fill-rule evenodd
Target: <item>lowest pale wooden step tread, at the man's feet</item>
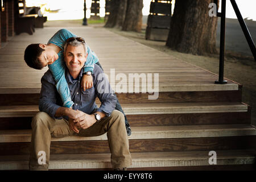
M 217 165 L 253 164 L 255 151 L 216 151 Z M 131 153 L 133 165 L 141 167 L 209 166 L 209 151 Z M 0 170 L 28 169 L 28 155 L 0 156 Z M 110 154 L 51 155 L 49 169 L 112 168 Z

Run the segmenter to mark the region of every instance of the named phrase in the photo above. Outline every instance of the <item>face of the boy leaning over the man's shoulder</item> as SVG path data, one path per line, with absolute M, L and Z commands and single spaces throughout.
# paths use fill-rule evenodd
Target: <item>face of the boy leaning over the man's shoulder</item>
M 46 44 L 39 44 L 39 47 L 44 49 L 42 54 L 39 56 L 39 60 L 44 67 L 54 63 L 54 61 L 59 59 L 59 56 L 57 55 L 57 53 L 53 49 L 47 47 Z

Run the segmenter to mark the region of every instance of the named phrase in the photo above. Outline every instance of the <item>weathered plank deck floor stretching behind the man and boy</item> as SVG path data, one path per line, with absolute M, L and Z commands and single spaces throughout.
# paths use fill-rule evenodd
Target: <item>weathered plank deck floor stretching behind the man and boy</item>
M 0 93 L 40 93 L 40 78 L 48 68 L 42 71 L 29 68 L 23 60 L 24 49 L 31 43 L 47 43 L 59 29 L 37 28 L 34 35 L 14 36 L 0 49 Z M 118 73 L 124 73 L 127 82 L 129 73 L 158 73 L 159 85 L 154 83 L 152 77 L 152 86 L 158 88 L 159 92 L 238 89 L 236 82 L 229 80 L 226 85 L 214 84 L 218 77 L 213 73 L 114 34 L 105 28 L 76 27 L 68 30 L 85 38 L 88 46 L 96 52 L 109 78 L 110 69 L 114 69 L 114 77 Z M 111 81 L 113 84 L 120 80 L 115 77 L 115 80 Z M 142 84 L 137 86 L 141 88 Z

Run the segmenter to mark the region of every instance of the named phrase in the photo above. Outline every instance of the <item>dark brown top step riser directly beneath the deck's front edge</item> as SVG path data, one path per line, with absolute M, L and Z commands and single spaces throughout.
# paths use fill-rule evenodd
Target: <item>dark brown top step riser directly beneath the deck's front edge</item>
M 148 100 L 148 93 L 117 93 L 121 104 L 168 103 L 168 102 L 241 102 L 242 91 L 205 91 L 205 92 L 159 92 L 157 100 Z M 38 105 L 40 94 L 0 94 L 0 105 Z M 98 99 L 96 100 L 96 102 Z

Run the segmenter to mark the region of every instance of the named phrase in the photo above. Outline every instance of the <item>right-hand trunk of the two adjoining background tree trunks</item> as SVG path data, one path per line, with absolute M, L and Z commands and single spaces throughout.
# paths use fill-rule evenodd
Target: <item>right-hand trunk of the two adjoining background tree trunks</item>
M 141 32 L 143 0 L 128 0 L 122 30 Z

